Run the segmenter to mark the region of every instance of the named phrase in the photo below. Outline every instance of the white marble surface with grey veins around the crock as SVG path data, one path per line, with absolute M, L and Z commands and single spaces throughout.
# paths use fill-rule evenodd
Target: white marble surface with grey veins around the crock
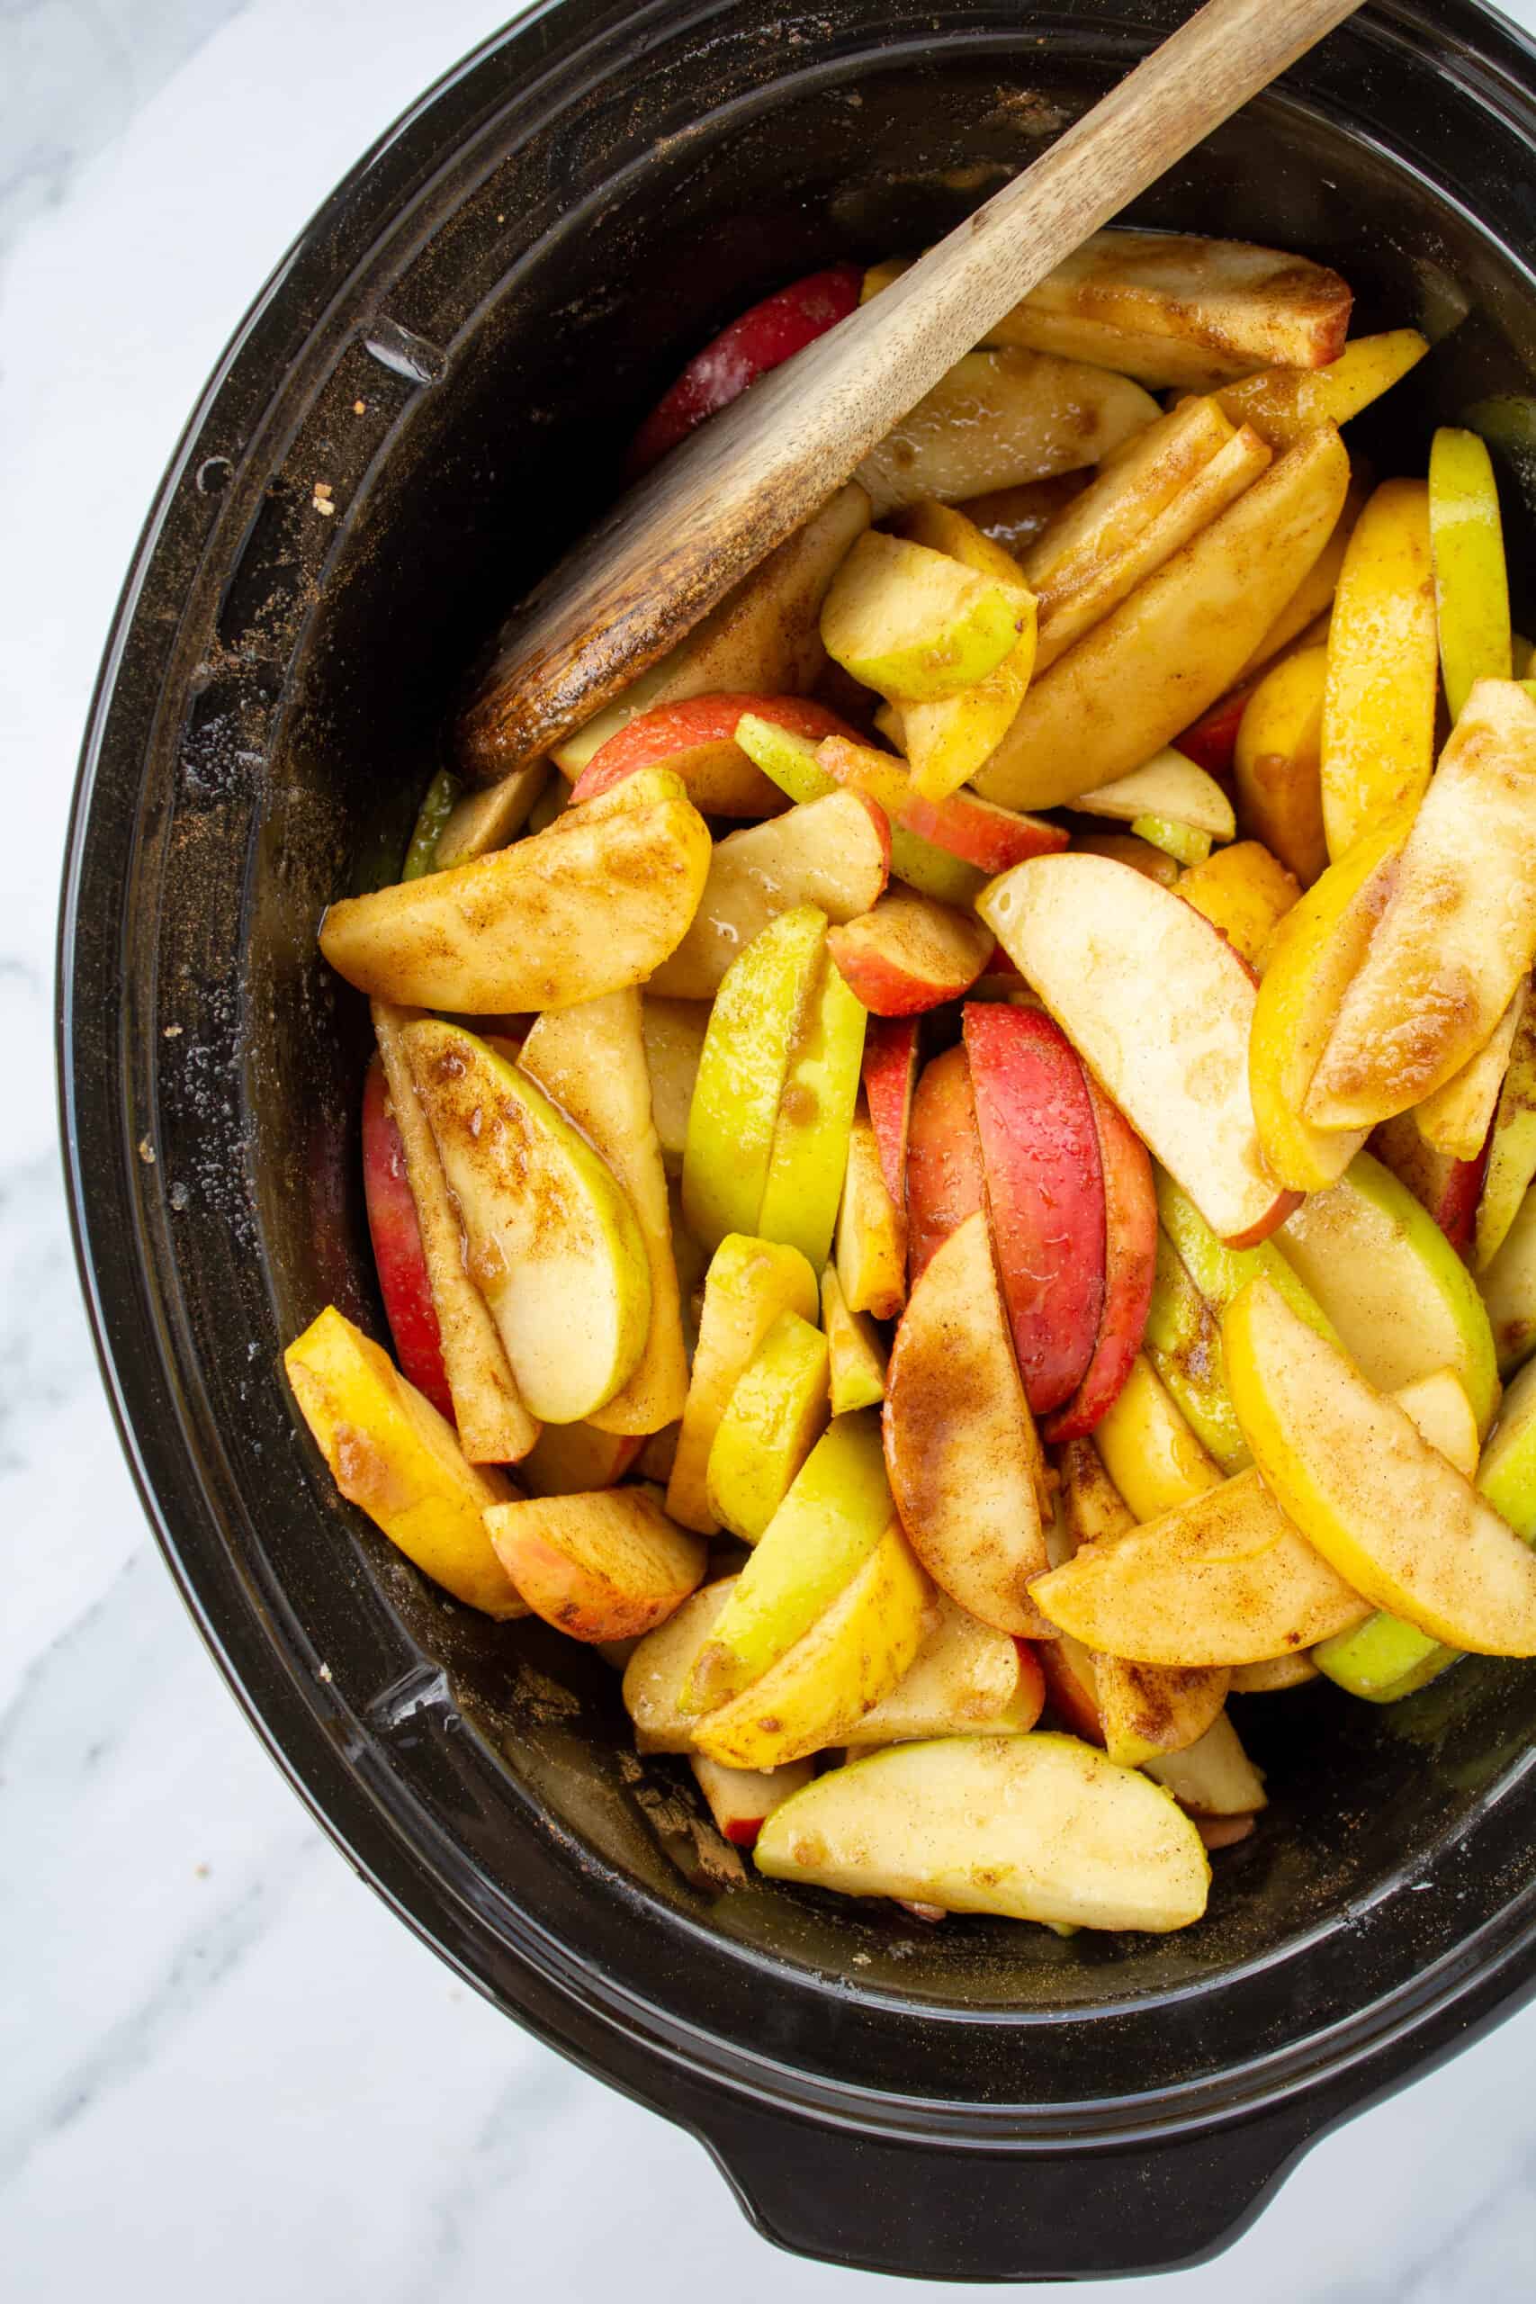
M 698 2145 L 465 1993 L 309 1822 L 161 1574 L 67 1249 L 58 855 L 140 516 L 269 265 L 497 16 L 497 0 L 0 7 L 0 2263 L 16 2297 L 491 2304 L 514 2286 L 585 2304 L 624 2286 L 850 2304 L 875 2286 L 776 2256 Z M 1529 2295 L 1527 2060 L 1536 2009 L 1326 2140 L 1179 2297 Z

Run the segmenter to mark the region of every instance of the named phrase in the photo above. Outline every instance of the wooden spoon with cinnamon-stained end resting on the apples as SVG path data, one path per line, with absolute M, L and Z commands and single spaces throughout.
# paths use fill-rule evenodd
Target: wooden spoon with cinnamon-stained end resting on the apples
M 592 719 L 960 353 L 1356 7 L 1207 0 L 891 288 L 691 433 L 511 613 L 458 723 L 465 772 L 495 783 Z

